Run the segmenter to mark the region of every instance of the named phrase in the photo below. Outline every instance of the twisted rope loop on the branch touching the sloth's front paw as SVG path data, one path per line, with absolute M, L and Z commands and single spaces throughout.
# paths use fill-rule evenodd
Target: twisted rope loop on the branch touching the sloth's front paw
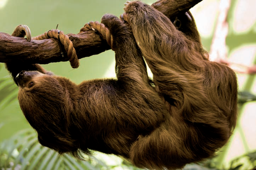
M 102 23 L 99 23 L 98 21 L 91 21 L 83 26 L 83 28 L 80 29 L 80 32 L 85 32 L 93 30 L 95 32 L 98 32 L 101 34 L 101 37 L 105 39 L 109 46 L 111 46 L 111 49 L 115 51 L 113 47 L 113 36 L 110 33 L 109 29 Z

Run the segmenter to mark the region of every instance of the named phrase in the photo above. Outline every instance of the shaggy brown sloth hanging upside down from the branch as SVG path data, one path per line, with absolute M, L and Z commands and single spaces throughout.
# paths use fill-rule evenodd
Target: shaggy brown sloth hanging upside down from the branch
M 39 142 L 77 158 L 97 150 L 159 170 L 213 156 L 235 127 L 237 82 L 228 66 L 208 61 L 190 17 L 179 16 L 177 29 L 140 1 L 126 4 L 123 20 L 104 15 L 117 79 L 76 85 L 37 64 L 7 63 Z

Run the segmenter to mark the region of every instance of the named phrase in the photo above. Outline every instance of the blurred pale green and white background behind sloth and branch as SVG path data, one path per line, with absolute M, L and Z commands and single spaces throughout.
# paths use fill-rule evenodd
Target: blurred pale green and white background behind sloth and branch
M 155 2 L 143 1 L 148 4 Z M 100 21 L 105 13 L 119 16 L 123 13 L 124 3 L 125 0 L 0 0 L 0 32 L 11 34 L 16 26 L 22 24 L 29 26 L 32 36 L 37 36 L 55 29 L 59 24 L 58 29 L 66 34 L 78 33 L 85 23 Z M 204 0 L 191 9 L 201 33 L 202 43 L 208 51 L 215 30 L 219 5 L 220 0 Z M 256 64 L 255 7 L 256 0 L 231 1 L 226 39 L 231 62 L 245 66 Z M 114 52 L 110 50 L 81 59 L 78 69 L 72 69 L 69 62 L 43 66 L 56 75 L 70 78 L 76 83 L 91 78 L 115 76 Z M 256 94 L 255 75 L 238 73 L 237 77 L 239 91 Z M 31 129 L 19 107 L 17 92 L 18 87 L 14 85 L 4 65 L 0 63 L 0 143 L 10 139 L 20 130 Z M 226 148 L 220 153 L 222 155 L 217 160 L 219 167 L 228 166 L 226 164 L 234 157 L 256 149 L 256 103 L 243 103 L 239 109 L 240 119 L 237 128 Z M 126 163 L 117 157 L 109 158 L 105 155 L 99 159 L 105 160 L 107 165 L 111 164 L 111 161 L 114 161 L 113 164 L 121 162 L 122 166 L 115 166 L 115 168 L 124 168 L 123 164 Z

